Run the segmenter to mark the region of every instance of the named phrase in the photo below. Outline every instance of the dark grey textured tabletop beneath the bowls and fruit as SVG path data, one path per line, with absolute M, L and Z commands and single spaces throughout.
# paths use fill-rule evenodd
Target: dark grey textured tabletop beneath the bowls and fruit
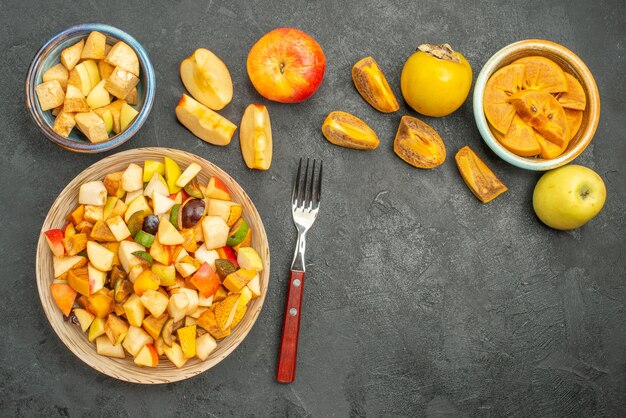
M 39 47 L 84 22 L 117 26 L 147 49 L 154 109 L 122 147 L 78 155 L 48 142 L 29 119 L 24 76 Z M 622 1 L 0 1 L 2 416 L 624 416 L 626 414 L 626 3 Z M 245 70 L 249 48 L 281 26 L 322 45 L 327 70 L 302 104 L 269 103 Z M 501 47 L 544 38 L 576 52 L 602 98 L 595 139 L 576 160 L 602 175 L 608 200 L 583 228 L 557 232 L 535 217 L 538 173 L 507 165 L 482 142 L 470 101 L 424 118 L 448 160 L 434 170 L 398 159 L 402 103 L 378 113 L 358 95 L 351 66 L 372 55 L 399 94 L 404 60 L 423 42 L 450 42 L 474 79 Z M 274 159 L 249 171 L 237 140 L 219 148 L 174 115 L 180 61 L 198 47 L 231 71 L 221 113 L 268 105 Z M 339 148 L 320 133 L 328 112 L 352 112 L 378 133 L 373 152 Z M 483 205 L 453 161 L 470 145 L 508 185 Z M 106 155 L 142 146 L 196 153 L 250 194 L 267 229 L 272 274 L 263 311 L 226 360 L 193 379 L 138 386 L 102 375 L 66 349 L 43 314 L 35 245 L 57 194 Z M 297 381 L 274 381 L 295 229 L 289 196 L 297 159 L 322 158 L 324 195 L 309 235 Z

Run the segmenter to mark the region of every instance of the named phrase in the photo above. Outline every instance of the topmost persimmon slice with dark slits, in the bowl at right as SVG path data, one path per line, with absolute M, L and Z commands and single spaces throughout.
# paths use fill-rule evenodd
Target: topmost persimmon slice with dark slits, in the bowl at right
M 522 91 L 511 96 L 509 102 L 519 117 L 544 138 L 556 145 L 567 146 L 567 117 L 554 96 L 541 91 Z

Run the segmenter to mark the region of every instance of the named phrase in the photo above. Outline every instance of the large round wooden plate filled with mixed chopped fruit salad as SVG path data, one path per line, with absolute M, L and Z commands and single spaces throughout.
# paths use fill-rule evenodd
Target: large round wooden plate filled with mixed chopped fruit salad
M 214 164 L 140 148 L 79 174 L 37 247 L 44 312 L 65 345 L 117 379 L 168 383 L 226 358 L 269 281 L 261 218 Z

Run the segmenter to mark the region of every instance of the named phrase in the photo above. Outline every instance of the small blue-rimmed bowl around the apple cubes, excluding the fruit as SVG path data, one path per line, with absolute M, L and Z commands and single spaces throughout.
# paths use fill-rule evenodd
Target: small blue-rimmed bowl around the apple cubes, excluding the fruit
M 53 65 L 60 62 L 60 54 L 65 48 L 75 44 L 81 39 L 86 38 L 91 31 L 98 31 L 106 35 L 107 43 L 112 45 L 117 41 L 124 41 L 135 50 L 139 58 L 140 74 L 139 84 L 137 85 L 138 102 L 134 106 L 139 114 L 135 120 L 119 134 L 112 136 L 108 141 L 97 144 L 89 142 L 89 140 L 78 130 L 72 129 L 68 138 L 64 138 L 52 130 L 54 116 L 51 111 L 42 111 L 37 100 L 35 87 L 42 82 L 43 73 Z M 135 38 L 126 32 L 114 28 L 112 26 L 99 23 L 89 23 L 84 25 L 73 26 L 62 32 L 57 33 L 48 42 L 41 47 L 35 55 L 28 74 L 26 75 L 26 107 L 30 115 L 41 130 L 41 132 L 50 141 L 55 144 L 75 152 L 96 153 L 113 149 L 132 138 L 144 124 L 154 102 L 154 93 L 156 80 L 154 68 L 148 58 L 146 50 L 137 42 Z

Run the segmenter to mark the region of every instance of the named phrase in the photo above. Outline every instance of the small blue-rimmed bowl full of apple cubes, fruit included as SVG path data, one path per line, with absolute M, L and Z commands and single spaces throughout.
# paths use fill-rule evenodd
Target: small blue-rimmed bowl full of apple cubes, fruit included
M 155 75 L 145 49 L 103 24 L 73 26 L 35 55 L 26 107 L 50 141 L 76 152 L 108 151 L 135 135 L 154 102 Z

